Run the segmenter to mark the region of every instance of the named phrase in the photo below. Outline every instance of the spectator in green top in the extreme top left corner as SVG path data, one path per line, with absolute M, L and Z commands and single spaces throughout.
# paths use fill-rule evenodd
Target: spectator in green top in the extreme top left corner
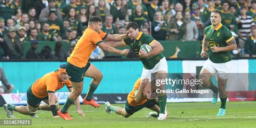
M 4 0 L 0 3 L 0 14 L 5 20 L 12 18 L 12 16 L 17 13 L 18 10 L 16 6 L 11 3 L 11 0 Z

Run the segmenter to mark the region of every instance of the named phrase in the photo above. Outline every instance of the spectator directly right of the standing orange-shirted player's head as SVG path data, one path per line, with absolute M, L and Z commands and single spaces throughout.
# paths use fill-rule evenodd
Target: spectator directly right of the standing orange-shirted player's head
M 108 34 L 116 34 L 115 25 L 113 24 L 113 16 L 107 15 L 106 21 L 102 25 L 102 30 Z

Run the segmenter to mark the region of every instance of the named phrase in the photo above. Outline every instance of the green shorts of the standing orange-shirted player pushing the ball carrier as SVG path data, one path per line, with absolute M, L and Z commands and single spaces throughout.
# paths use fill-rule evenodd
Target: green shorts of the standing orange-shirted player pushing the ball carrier
M 66 71 L 69 75 L 69 80 L 72 82 L 82 82 L 84 80 L 85 72 L 90 67 L 90 65 L 91 63 L 87 62 L 84 68 L 79 68 L 67 62 Z

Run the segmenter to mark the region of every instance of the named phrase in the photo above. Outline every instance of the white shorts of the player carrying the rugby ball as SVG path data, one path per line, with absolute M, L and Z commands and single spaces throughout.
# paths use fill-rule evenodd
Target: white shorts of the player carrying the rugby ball
M 166 61 L 165 57 L 161 58 L 159 63 L 157 63 L 155 65 L 155 67 L 150 70 L 145 69 L 143 67 L 142 74 L 141 74 L 141 80 L 143 80 L 144 78 L 148 78 L 149 81 L 151 81 L 151 73 L 156 73 L 160 70 L 163 70 L 164 72 L 168 73 L 168 65 L 167 65 L 167 61 Z

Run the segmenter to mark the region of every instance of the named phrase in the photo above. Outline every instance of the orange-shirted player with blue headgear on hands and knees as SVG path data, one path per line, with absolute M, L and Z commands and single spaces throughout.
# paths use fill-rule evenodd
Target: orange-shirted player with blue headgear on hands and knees
M 36 80 L 27 90 L 28 106 L 5 104 L 3 107 L 7 113 L 7 117 L 15 118 L 13 110 L 24 114 L 38 117 L 36 112 L 39 110 L 51 110 L 54 118 L 58 118 L 59 102 L 57 101 L 55 92 L 67 85 L 71 92 L 73 90 L 71 82 L 68 78 L 65 64 L 60 65 L 55 72 L 47 73 L 42 78 Z M 44 101 L 44 104 L 41 104 Z M 83 111 L 80 109 L 80 102 L 77 98 L 75 102 L 77 113 L 84 117 Z

